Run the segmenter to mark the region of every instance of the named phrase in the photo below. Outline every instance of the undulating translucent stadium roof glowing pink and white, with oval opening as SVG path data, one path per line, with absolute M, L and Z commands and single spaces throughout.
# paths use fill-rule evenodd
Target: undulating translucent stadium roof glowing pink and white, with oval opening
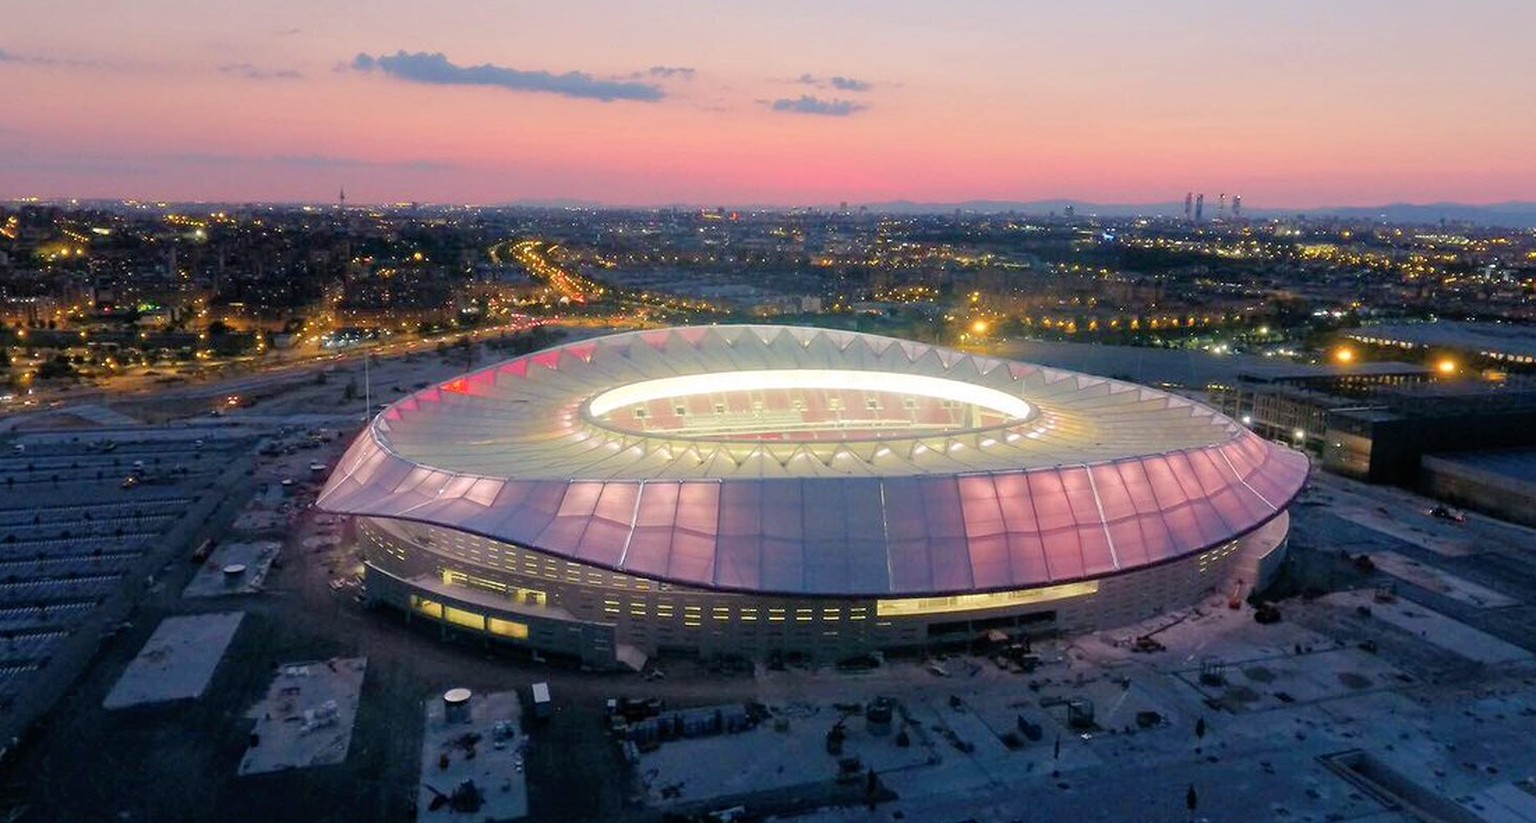
M 899 596 L 1170 560 L 1267 522 L 1306 473 L 1152 388 L 723 326 L 578 341 L 421 390 L 366 428 L 319 505 L 687 585 Z

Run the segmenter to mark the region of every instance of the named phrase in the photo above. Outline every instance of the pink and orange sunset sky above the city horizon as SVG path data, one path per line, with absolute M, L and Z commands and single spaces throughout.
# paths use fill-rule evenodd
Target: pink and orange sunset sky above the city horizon
M 3 0 L 0 198 L 1536 200 L 1530 0 Z

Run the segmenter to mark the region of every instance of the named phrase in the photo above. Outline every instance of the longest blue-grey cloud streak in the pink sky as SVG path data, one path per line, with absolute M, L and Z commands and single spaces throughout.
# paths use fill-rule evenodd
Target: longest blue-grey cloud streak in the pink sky
M 598 80 L 585 72 L 551 74 L 547 71 L 521 71 L 482 63 L 479 66 L 456 66 L 442 52 L 404 52 L 372 57 L 359 54 L 352 58 L 352 68 L 359 72 L 381 71 L 398 80 L 427 83 L 433 86 L 495 86 L 519 92 L 547 92 L 587 100 L 639 100 L 653 103 L 665 97 L 660 86 L 650 83 L 625 83 Z

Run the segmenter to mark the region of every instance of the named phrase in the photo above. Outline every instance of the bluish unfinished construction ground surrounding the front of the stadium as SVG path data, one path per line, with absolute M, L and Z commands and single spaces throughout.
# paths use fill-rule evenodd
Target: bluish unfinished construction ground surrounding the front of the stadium
M 372 392 L 459 369 L 375 362 Z M 1313 474 L 1260 596 L 582 671 L 369 608 L 346 521 L 307 505 L 359 376 L 3 435 L 8 818 L 1536 820 L 1528 528 Z M 167 481 L 123 488 L 135 462 Z

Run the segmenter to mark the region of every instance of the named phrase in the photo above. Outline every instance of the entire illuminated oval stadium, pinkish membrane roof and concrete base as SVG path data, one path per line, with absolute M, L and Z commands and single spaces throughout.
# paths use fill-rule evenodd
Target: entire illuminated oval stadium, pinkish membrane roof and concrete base
M 321 491 L 372 603 L 591 668 L 1092 631 L 1263 585 L 1307 459 L 1189 399 L 865 333 L 568 342 L 389 405 Z

